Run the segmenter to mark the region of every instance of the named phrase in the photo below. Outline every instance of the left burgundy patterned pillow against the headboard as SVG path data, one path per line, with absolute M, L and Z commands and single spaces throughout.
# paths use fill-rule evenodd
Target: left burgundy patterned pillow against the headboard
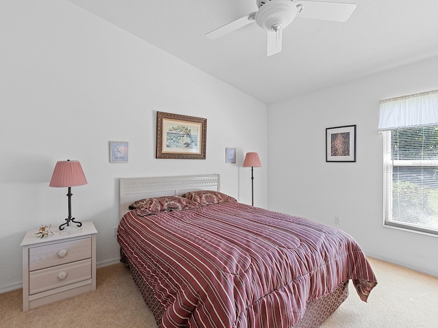
M 190 208 L 196 208 L 201 206 L 188 198 L 179 196 L 163 196 L 144 198 L 138 200 L 129 205 L 129 209 L 136 209 L 136 212 L 140 216 L 152 215 L 158 213 L 169 212 L 170 210 L 188 210 Z

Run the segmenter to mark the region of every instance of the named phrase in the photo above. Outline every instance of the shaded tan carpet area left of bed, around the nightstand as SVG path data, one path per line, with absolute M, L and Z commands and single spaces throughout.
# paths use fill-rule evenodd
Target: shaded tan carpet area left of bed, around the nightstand
M 123 264 L 96 271 L 96 290 L 23 312 L 22 289 L 0 294 L 1 328 L 155 328 Z

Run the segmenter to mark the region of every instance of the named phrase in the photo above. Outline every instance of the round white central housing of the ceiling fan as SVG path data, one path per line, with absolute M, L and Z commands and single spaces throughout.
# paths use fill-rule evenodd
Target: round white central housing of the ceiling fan
M 291 0 L 271 0 L 261 5 L 255 23 L 266 31 L 285 29 L 296 17 L 296 5 Z

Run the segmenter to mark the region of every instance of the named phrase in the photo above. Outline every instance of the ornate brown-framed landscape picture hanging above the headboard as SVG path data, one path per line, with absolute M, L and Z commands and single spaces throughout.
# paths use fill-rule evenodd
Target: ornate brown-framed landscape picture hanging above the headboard
M 157 112 L 157 159 L 205 159 L 207 119 Z

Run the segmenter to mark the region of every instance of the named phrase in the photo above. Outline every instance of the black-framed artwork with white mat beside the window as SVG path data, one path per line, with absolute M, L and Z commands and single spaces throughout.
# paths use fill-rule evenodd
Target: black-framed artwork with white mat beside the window
M 356 161 L 356 125 L 326 128 L 326 162 Z

